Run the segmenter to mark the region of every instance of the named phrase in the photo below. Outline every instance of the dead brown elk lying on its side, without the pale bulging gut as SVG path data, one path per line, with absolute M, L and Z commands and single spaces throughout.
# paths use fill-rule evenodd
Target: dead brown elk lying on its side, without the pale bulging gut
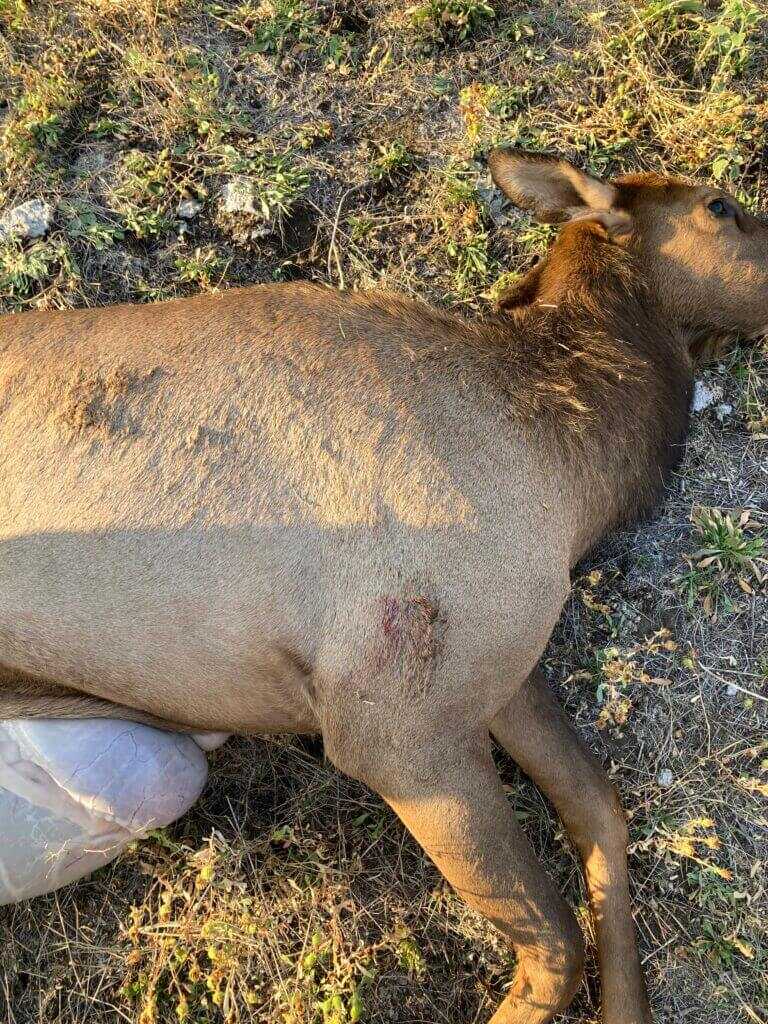
M 566 223 L 482 325 L 302 285 L 0 319 L 0 719 L 321 732 L 514 946 L 494 1024 L 542 1024 L 582 936 L 493 734 L 582 855 L 605 1024 L 647 1024 L 624 815 L 537 664 L 680 454 L 692 348 L 768 326 L 768 227 L 653 175 L 490 166 Z

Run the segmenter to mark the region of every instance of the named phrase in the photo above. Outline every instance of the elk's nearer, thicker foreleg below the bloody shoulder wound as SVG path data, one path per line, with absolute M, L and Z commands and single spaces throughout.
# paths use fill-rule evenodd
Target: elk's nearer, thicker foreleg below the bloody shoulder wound
M 361 768 L 349 751 L 327 751 L 377 790 L 475 910 L 509 940 L 518 966 L 492 1024 L 546 1024 L 582 980 L 584 945 L 571 910 L 521 834 L 490 757 L 474 741 L 411 733 L 401 750 L 369 745 Z

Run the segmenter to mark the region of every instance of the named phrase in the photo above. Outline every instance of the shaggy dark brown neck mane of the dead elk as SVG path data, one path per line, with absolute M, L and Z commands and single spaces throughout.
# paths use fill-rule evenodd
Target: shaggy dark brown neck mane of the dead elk
M 563 229 L 501 306 L 486 338 L 509 414 L 562 460 L 586 550 L 647 512 L 682 456 L 692 386 L 685 338 L 631 253 L 589 222 Z

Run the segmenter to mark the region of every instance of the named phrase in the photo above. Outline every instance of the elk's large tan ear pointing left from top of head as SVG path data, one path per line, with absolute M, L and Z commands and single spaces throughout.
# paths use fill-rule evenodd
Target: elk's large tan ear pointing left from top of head
M 530 210 L 537 220 L 555 224 L 610 210 L 616 200 L 612 185 L 585 174 L 567 160 L 523 150 L 493 150 L 490 176 L 515 206 Z

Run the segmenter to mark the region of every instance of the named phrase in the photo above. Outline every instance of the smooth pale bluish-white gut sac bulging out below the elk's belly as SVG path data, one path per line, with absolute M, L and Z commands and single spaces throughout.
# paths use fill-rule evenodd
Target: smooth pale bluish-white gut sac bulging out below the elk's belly
M 112 720 L 0 722 L 0 905 L 108 864 L 198 799 L 206 756 L 189 736 Z

